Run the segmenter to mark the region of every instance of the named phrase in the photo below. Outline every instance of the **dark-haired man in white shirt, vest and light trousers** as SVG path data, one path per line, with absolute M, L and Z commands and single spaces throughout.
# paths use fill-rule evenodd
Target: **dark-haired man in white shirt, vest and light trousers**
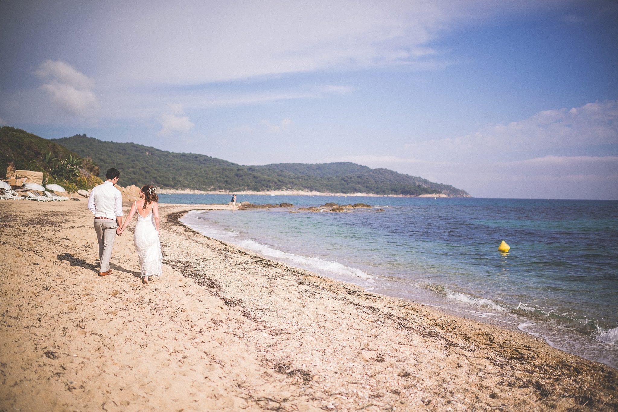
M 96 186 L 88 198 L 88 210 L 95 214 L 96 240 L 99 242 L 99 276 L 111 274 L 109 259 L 116 238 L 116 229 L 122 227 L 122 194 L 114 187 L 120 172 L 112 167 L 105 174 L 106 181 Z

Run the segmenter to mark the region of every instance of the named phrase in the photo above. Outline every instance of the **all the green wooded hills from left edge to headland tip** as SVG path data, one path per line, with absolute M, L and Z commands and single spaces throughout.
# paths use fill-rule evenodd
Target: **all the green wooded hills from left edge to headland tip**
M 204 154 L 174 153 L 86 135 L 48 140 L 8 126 L 0 128 L 0 154 L 0 174 L 14 167 L 53 175 L 49 159 L 57 165 L 72 156 L 87 166 L 76 166 L 83 169 L 82 180 L 90 175 L 103 177 L 105 170 L 116 167 L 123 186 L 150 184 L 160 193 L 471 197 L 451 185 L 352 162 L 245 166 Z

